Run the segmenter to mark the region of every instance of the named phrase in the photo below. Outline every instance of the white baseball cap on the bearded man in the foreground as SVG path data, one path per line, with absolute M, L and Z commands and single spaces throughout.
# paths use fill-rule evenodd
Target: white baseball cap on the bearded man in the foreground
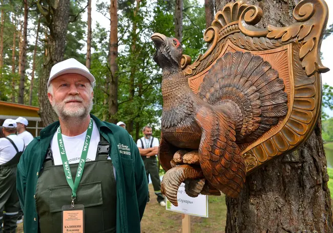
M 81 64 L 74 58 L 60 61 L 52 67 L 47 87 L 50 86 L 50 82 L 52 79 L 62 74 L 80 74 L 82 76 L 85 76 L 91 82 L 91 86 L 94 87 L 95 77 L 89 72 L 88 68 L 85 65 Z

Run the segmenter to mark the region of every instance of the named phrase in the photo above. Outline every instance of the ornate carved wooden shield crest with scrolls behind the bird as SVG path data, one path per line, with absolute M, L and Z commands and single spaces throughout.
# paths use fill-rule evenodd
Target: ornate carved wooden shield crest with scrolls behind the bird
M 192 64 L 183 55 L 181 68 L 189 86 L 199 94 L 199 87 L 218 58 L 228 52 L 250 52 L 260 56 L 278 72 L 287 97 L 287 113 L 278 123 L 252 142 L 238 143 L 246 172 L 270 159 L 296 150 L 313 131 L 320 114 L 321 77 L 329 69 L 320 60 L 320 45 L 326 28 L 328 9 L 323 0 L 304 0 L 294 10 L 297 23 L 284 28 L 254 27 L 262 10 L 242 0 L 227 4 L 215 15 L 212 26 L 204 32 L 207 51 Z

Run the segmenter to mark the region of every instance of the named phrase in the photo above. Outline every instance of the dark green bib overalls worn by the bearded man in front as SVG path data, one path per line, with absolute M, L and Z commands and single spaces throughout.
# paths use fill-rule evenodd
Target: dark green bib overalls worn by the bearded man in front
M 98 154 L 98 153 L 97 153 Z M 77 189 L 75 204 L 85 206 L 85 232 L 116 232 L 116 181 L 111 159 L 108 155 L 96 155 L 88 161 Z M 51 159 L 50 159 L 51 158 Z M 52 165 L 48 153 L 44 169 L 36 186 L 36 207 L 41 233 L 61 232 L 61 207 L 71 204 L 72 189 L 67 183 L 64 167 Z M 78 163 L 70 164 L 75 177 Z

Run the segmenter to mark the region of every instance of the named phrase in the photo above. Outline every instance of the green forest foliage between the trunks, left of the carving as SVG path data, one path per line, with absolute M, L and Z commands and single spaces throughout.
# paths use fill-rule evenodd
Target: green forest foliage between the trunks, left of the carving
M 0 8 L 5 10 L 4 31 L 4 68 L 3 78 L 0 80 L 0 99 L 11 101 L 12 82 L 14 81 L 14 97 L 17 98 L 18 75 L 18 44 L 20 22 L 23 19 L 23 1 L 3 0 Z M 47 6 L 47 1 L 41 1 Z M 67 41 L 64 59 L 73 57 L 81 63 L 86 62 L 86 22 L 82 20 L 82 14 L 86 14 L 87 1 L 70 1 L 70 23 L 68 24 Z M 110 1 L 98 0 L 97 11 L 109 20 Z M 150 36 L 154 32 L 163 33 L 166 36 L 174 36 L 174 1 L 167 0 L 142 0 L 139 12 L 136 10 L 136 1 L 118 1 L 118 112 L 116 118 L 124 122 L 133 122 L 131 134 L 141 135 L 144 125 L 153 127 L 154 137 L 160 136 L 160 116 L 162 113 L 161 95 L 161 70 L 153 61 L 155 46 Z M 38 18 L 41 18 L 36 56 L 36 70 L 33 88 L 32 104 L 38 106 L 38 79 L 43 68 L 46 37 L 49 33 L 45 17 L 36 8 L 35 1 L 29 0 L 28 15 L 28 49 L 27 49 L 27 78 L 25 83 L 25 103 L 29 102 L 30 79 L 33 61 L 34 43 Z M 94 17 L 94 16 L 93 16 Z M 94 22 L 93 18 L 93 22 Z M 136 31 L 133 31 L 133 25 Z M 91 73 L 96 78 L 94 88 L 93 114 L 102 119 L 108 117 L 109 98 L 109 39 L 110 28 L 93 25 Z M 188 54 L 193 60 L 206 48 L 203 40 L 205 29 L 204 7 L 198 0 L 184 0 L 183 10 L 183 53 Z M 15 72 L 12 74 L 12 44 L 13 35 L 16 33 Z M 132 47 L 135 41 L 135 49 Z M 134 77 L 134 83 L 130 78 Z M 130 93 L 134 87 L 134 93 Z M 133 97 L 133 98 L 132 98 Z M 17 101 L 17 99 L 15 99 Z

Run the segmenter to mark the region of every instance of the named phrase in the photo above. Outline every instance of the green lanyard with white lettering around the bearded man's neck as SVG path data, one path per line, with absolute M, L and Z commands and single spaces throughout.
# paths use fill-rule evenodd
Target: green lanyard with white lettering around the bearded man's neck
M 86 140 L 84 143 L 84 147 L 82 149 L 80 162 L 78 163 L 78 167 L 77 167 L 75 183 L 73 183 L 71 168 L 69 167 L 69 161 L 68 161 L 68 158 L 66 155 L 64 140 L 63 140 L 63 136 L 61 135 L 60 126 L 58 128 L 58 145 L 59 145 L 60 156 L 61 156 L 61 160 L 63 161 L 63 166 L 64 166 L 67 183 L 72 188 L 72 207 L 74 207 L 74 201 L 76 198 L 76 190 L 77 190 L 78 184 L 80 183 L 80 180 L 81 180 L 84 168 L 85 168 L 85 163 L 86 163 L 86 158 L 87 158 L 87 154 L 88 154 L 88 149 L 89 149 L 92 132 L 93 132 L 93 120 L 90 119 L 88 130 L 87 130 L 87 135 L 86 135 Z

